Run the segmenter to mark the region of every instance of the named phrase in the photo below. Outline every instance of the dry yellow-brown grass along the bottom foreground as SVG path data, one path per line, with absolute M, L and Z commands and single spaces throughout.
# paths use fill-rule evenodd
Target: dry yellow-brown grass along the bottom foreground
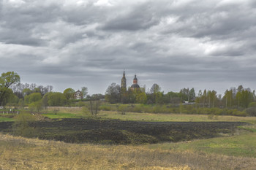
M 67 144 L 0 134 L 0 169 L 255 169 L 256 158 Z

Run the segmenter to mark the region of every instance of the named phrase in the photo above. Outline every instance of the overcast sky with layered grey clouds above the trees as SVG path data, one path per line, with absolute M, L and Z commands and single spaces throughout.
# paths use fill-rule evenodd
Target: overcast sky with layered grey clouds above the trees
M 0 72 L 56 91 L 254 90 L 255 52 L 255 0 L 0 0 Z

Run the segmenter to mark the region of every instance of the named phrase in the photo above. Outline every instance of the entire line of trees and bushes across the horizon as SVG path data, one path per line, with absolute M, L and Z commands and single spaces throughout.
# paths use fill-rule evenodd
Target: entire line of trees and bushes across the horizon
M 67 88 L 63 93 L 53 92 L 52 85 L 22 84 L 17 73 L 7 72 L 2 73 L 0 77 L 0 106 L 31 107 L 39 112 L 42 107 L 86 107 L 85 101 L 102 101 L 105 98 L 105 101 L 110 104 L 128 104 L 132 106 L 123 108 L 127 112 L 136 110 L 136 112 L 155 113 L 183 112 L 256 116 L 255 90 L 244 88 L 242 85 L 239 85 L 238 88 L 227 89 L 224 96 L 218 94 L 215 90 L 199 90 L 196 94 L 194 88 L 182 88 L 179 92 L 164 93 L 157 84 L 152 85 L 150 90 L 146 91 L 145 88 L 122 89 L 120 85 L 112 83 L 108 86 L 105 95 L 93 94 L 89 96 L 86 87 L 81 88 L 80 91 L 83 99 L 76 100 L 73 97 L 75 90 L 72 88 Z M 151 105 L 151 109 L 148 109 L 147 105 Z M 140 108 L 138 108 L 139 106 Z M 113 107 L 101 104 L 99 109 L 113 110 Z

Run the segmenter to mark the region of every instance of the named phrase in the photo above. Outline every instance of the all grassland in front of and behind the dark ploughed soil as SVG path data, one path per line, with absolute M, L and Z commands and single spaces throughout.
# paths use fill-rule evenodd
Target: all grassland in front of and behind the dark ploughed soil
M 84 117 L 81 108 L 49 108 L 50 118 Z M 87 115 L 89 116 L 89 115 Z M 242 121 L 256 117 L 99 112 L 102 119 L 141 121 Z M 0 117 L 1 118 L 1 117 Z M 0 119 L 5 121 L 6 117 Z M 1 169 L 255 169 L 256 127 L 235 136 L 143 145 L 67 144 L 0 134 Z M 251 132 L 249 132 L 251 131 Z

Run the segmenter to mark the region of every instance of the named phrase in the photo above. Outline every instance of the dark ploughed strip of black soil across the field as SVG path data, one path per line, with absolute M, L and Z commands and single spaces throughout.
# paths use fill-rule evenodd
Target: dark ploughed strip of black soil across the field
M 97 119 L 63 119 L 34 122 L 27 137 L 69 143 L 145 144 L 207 139 L 233 134 L 242 122 L 138 122 Z M 0 123 L 0 131 L 12 134 L 12 123 Z

